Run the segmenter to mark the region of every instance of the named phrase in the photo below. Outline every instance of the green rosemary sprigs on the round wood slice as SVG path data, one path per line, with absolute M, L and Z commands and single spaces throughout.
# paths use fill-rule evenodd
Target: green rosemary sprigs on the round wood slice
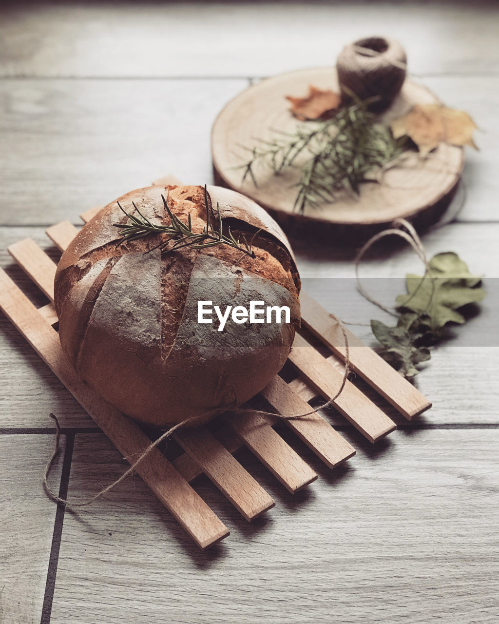
M 387 126 L 376 123 L 376 115 L 367 110 L 371 101 L 355 99 L 331 119 L 298 124 L 293 132 L 275 130 L 272 139 L 258 139 L 259 145 L 251 148 L 241 146 L 251 158 L 235 168 L 243 170 L 243 182 L 249 177 L 255 186 L 255 165 L 270 168 L 274 175 L 298 168 L 294 209 L 301 213 L 306 207 L 333 202 L 342 190 L 358 194 L 367 174 L 397 157 L 405 144 L 405 139 L 394 139 Z

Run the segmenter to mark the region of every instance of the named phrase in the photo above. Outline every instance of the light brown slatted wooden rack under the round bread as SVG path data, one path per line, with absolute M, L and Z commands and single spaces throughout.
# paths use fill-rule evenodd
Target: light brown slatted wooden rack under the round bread
M 158 183 L 165 183 L 165 179 Z M 99 210 L 93 208 L 85 212 L 81 215 L 82 220 L 89 221 Z M 61 251 L 77 231 L 69 222 L 57 223 L 46 230 Z M 148 436 L 137 422 L 82 383 L 62 353 L 59 336 L 53 327 L 57 323 L 53 306 L 56 263 L 30 238 L 14 243 L 9 252 L 51 303 L 36 308 L 14 281 L 0 270 L 0 308 L 120 453 L 124 457 L 136 457 L 150 443 Z M 309 411 L 309 399 L 317 394 L 329 399 L 336 394 L 342 381 L 338 365 L 344 363 L 345 354 L 344 348 L 338 346 L 342 340 L 336 321 L 306 293 L 301 294 L 301 316 L 303 326 L 326 345 L 331 355 L 324 358 L 301 334 L 296 335 L 289 361 L 301 376 L 289 384 L 276 377 L 261 392 L 281 414 Z M 430 407 L 429 401 L 372 349 L 351 332 L 348 336 L 352 369 L 403 416 L 411 419 Z M 395 429 L 395 423 L 382 409 L 350 381 L 334 406 L 371 442 Z M 355 454 L 351 444 L 319 414 L 283 422 L 329 468 Z M 289 492 L 296 492 L 317 479 L 316 472 L 274 431 L 271 422 L 256 412 L 237 417 L 227 414 L 216 436 L 206 427 L 200 427 L 178 432 L 174 437 L 185 451 L 182 456 L 170 462 L 156 448 L 137 467 L 137 472 L 201 548 L 224 539 L 229 531 L 190 486 L 190 481 L 198 475 L 206 474 L 248 521 L 275 504 L 233 457 L 233 452 L 241 446 L 248 447 Z

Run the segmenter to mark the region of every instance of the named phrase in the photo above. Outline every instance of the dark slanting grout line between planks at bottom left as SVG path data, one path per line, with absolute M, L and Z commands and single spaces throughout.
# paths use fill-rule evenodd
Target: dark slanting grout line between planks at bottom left
M 54 430 L 55 431 L 55 430 Z M 62 433 L 62 431 L 61 431 Z M 67 497 L 69 487 L 69 475 L 71 472 L 71 462 L 74 449 L 74 434 L 66 434 L 66 444 L 64 450 L 64 461 L 62 463 L 61 484 L 59 485 L 59 496 L 63 499 Z M 52 533 L 51 554 L 49 557 L 49 567 L 47 570 L 47 580 L 45 584 L 45 595 L 42 607 L 42 617 L 40 624 L 49 624 L 52 614 L 52 600 L 56 588 L 57 563 L 59 563 L 59 549 L 61 548 L 62 526 L 64 524 L 64 506 L 57 504 L 56 520 L 54 522 L 54 532 Z

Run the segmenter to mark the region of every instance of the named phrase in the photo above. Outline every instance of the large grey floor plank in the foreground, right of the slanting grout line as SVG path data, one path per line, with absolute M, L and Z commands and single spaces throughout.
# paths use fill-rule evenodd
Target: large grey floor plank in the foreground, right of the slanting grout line
M 141 480 L 128 480 L 65 518 L 51 622 L 492 624 L 499 431 L 483 434 L 417 431 L 374 452 L 367 443 L 341 476 L 294 498 L 279 492 L 285 508 L 251 525 L 203 479 L 198 491 L 232 530 L 212 553 L 186 545 Z M 104 467 L 114 479 L 125 463 L 104 436 L 77 435 L 70 495 L 90 495 Z

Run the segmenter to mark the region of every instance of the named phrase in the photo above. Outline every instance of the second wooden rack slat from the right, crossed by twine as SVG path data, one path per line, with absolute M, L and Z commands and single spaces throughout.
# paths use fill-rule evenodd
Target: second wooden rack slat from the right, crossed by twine
M 294 338 L 289 361 L 326 399 L 331 399 L 340 388 L 342 374 L 300 334 Z M 371 442 L 376 442 L 397 428 L 392 419 L 349 381 L 334 401 L 334 406 Z

